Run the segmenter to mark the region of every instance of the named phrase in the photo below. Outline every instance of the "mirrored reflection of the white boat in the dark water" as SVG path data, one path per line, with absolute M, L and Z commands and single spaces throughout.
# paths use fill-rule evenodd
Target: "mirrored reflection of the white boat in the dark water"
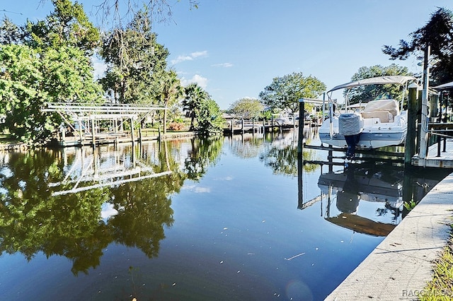
M 403 170 L 350 165 L 342 172 L 323 173 L 318 187 L 327 197 L 324 218 L 331 223 L 355 232 L 386 236 L 401 221 Z

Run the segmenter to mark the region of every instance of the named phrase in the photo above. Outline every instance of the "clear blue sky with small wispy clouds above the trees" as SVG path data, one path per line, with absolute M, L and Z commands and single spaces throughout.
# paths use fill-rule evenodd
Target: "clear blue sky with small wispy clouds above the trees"
M 105 23 L 94 5 L 103 1 L 79 1 L 100 27 Z M 125 1 L 120 0 L 122 8 Z M 318 78 L 327 90 L 349 82 L 362 66 L 398 64 L 421 73 L 415 58 L 391 61 L 382 47 L 410 40 L 437 8 L 453 9 L 451 0 L 197 2 L 198 8 L 190 8 L 189 0 L 168 0 L 171 20 L 155 23 L 154 32 L 183 85 L 198 83 L 222 110 L 241 98 L 258 98 L 273 78 L 293 72 Z M 18 25 L 27 18 L 42 20 L 53 8 L 50 0 L 40 3 L 1 0 L 0 16 Z M 96 70 L 103 70 L 99 62 Z

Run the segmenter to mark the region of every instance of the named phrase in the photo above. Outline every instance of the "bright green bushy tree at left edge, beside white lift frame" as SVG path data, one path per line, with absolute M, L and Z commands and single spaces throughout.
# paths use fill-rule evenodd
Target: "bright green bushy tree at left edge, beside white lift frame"
M 101 89 L 81 50 L 59 47 L 37 53 L 26 45 L 0 46 L 0 112 L 4 129 L 21 141 L 45 141 L 61 123 L 40 111 L 45 102 L 96 102 Z

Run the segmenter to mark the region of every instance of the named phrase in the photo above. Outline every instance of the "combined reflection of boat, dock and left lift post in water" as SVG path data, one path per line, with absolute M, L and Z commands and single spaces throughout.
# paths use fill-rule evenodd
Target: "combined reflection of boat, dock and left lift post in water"
M 299 158 L 299 169 L 305 164 Z M 328 222 L 367 235 L 386 236 L 407 213 L 403 203 L 418 203 L 450 170 L 404 170 L 398 165 L 374 162 L 348 164 L 326 162 L 328 172 L 318 180 L 320 193 L 304 200 L 303 173 L 299 172 L 299 209 L 321 203 Z M 337 165 L 333 170 L 333 165 Z M 335 206 L 335 207 L 333 207 Z M 363 210 L 360 210 L 363 208 Z

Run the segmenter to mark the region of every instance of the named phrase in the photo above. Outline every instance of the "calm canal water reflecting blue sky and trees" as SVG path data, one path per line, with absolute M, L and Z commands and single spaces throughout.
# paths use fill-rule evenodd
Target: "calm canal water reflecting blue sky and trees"
M 0 300 L 323 300 L 443 175 L 294 135 L 0 153 Z

